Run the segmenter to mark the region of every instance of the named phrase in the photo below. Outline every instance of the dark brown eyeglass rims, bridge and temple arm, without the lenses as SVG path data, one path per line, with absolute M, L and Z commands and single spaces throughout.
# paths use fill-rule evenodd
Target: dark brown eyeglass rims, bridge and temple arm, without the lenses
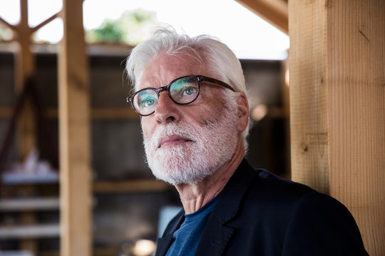
M 134 103 L 133 103 L 133 97 L 135 97 L 135 95 L 137 95 L 139 92 L 143 92 L 144 90 L 153 90 L 156 92 L 156 94 L 158 95 L 158 100 L 159 100 L 159 95 L 160 95 L 160 92 L 162 92 L 163 90 L 166 90 L 167 91 L 167 94 L 168 94 L 168 97 L 170 97 L 171 100 L 173 100 L 173 102 L 175 102 L 175 104 L 178 104 L 178 105 L 188 105 L 188 104 L 191 104 L 193 102 L 195 102 L 195 100 L 197 100 L 197 97 L 194 98 L 194 100 L 190 101 L 190 102 L 187 102 L 187 103 L 180 103 L 180 102 L 177 102 L 173 99 L 173 97 L 171 96 L 171 93 L 170 93 L 170 87 L 171 85 L 173 85 L 173 83 L 177 80 L 180 80 L 180 79 L 183 79 L 183 78 L 195 78 L 197 80 L 197 84 L 198 84 L 198 92 L 197 92 L 197 97 L 199 97 L 199 94 L 200 94 L 200 84 L 202 82 L 211 82 L 211 83 L 214 83 L 216 85 L 222 85 L 223 87 L 227 88 L 227 89 L 230 89 L 232 90 L 233 92 L 235 92 L 234 88 L 232 88 L 230 85 L 228 85 L 226 82 L 223 82 L 221 80 L 217 80 L 215 78 L 209 78 L 205 75 L 184 75 L 180 78 L 175 78 L 174 80 L 172 80 L 171 82 L 168 83 L 168 85 L 166 86 L 163 86 L 163 87 L 159 87 L 158 89 L 157 88 L 153 88 L 153 87 L 145 87 L 143 89 L 140 89 L 136 92 L 134 92 L 132 95 L 128 96 L 126 98 L 127 100 L 127 103 L 130 103 L 131 104 L 131 107 L 133 107 L 133 110 L 139 114 L 140 116 L 142 117 L 147 117 L 151 114 L 153 114 L 155 112 L 155 110 L 153 112 L 150 112 L 150 114 L 140 114 L 138 112 L 138 110 L 135 109 L 135 106 L 134 106 Z M 156 109 L 156 107 L 155 107 Z

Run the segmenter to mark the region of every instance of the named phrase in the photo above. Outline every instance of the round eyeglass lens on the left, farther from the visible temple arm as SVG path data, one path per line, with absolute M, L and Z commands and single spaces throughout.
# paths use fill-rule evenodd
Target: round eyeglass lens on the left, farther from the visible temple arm
M 158 95 L 155 90 L 143 90 L 133 97 L 133 105 L 140 114 L 150 114 L 158 105 Z

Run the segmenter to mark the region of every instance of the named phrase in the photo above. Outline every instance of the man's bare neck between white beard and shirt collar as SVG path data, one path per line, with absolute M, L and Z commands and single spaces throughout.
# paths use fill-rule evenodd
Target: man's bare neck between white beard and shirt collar
M 178 184 L 175 185 L 180 195 L 185 213 L 194 213 L 199 210 L 206 203 L 215 198 L 234 174 L 237 167 L 240 165 L 243 156 L 245 155 L 245 148 L 240 139 L 237 143 L 235 153 L 232 158 L 225 164 L 220 166 L 214 174 L 207 176 L 203 181 L 197 184 Z

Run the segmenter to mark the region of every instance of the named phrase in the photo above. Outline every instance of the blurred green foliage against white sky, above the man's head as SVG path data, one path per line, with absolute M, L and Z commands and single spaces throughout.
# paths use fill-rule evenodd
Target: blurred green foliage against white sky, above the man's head
M 97 29 L 86 32 L 88 43 L 128 43 L 136 45 L 143 41 L 156 26 L 155 14 L 138 9 L 123 13 L 118 20 L 103 21 Z

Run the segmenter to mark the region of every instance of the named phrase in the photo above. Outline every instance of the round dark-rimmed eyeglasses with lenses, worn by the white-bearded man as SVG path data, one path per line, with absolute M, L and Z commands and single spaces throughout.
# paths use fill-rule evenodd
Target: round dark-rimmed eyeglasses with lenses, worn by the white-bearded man
M 227 85 L 227 83 L 221 80 L 207 78 L 203 75 L 186 75 L 181 78 L 176 78 L 167 86 L 159 87 L 158 89 L 147 87 L 138 90 L 127 97 L 127 102 L 131 103 L 135 112 L 145 117 L 155 112 L 161 91 L 167 90 L 168 96 L 176 104 L 187 105 L 197 99 L 200 92 L 200 85 L 203 81 L 222 85 L 235 92 L 230 85 Z

